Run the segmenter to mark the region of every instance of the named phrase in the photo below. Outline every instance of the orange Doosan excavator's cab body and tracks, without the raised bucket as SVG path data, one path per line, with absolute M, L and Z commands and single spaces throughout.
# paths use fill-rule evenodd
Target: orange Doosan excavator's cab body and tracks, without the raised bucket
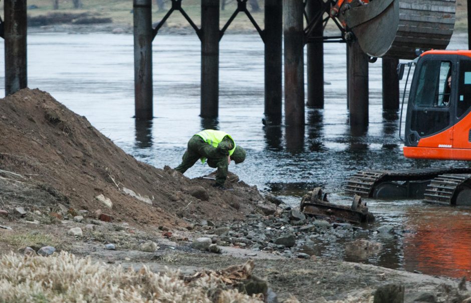
M 431 50 L 414 61 L 407 103 L 404 156 L 471 160 L 471 51 Z M 410 71 L 410 70 L 409 70 Z M 471 205 L 471 168 L 359 171 L 346 192 L 376 198 L 423 198 Z

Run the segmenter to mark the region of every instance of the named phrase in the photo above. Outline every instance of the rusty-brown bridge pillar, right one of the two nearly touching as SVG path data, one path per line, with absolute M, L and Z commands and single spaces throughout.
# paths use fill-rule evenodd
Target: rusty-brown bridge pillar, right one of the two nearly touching
M 283 0 L 285 124 L 304 127 L 304 5 Z

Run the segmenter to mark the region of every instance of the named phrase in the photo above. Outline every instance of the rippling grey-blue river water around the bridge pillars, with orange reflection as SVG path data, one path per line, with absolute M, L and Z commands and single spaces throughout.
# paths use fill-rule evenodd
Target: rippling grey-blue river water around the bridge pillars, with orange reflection
M 466 49 L 465 35 L 449 49 Z M 49 92 L 87 119 L 126 152 L 162 168 L 175 167 L 187 140 L 209 126 L 229 132 L 248 151 L 229 170 L 246 183 L 298 205 L 321 186 L 335 203 L 349 205 L 346 179 L 356 170 L 467 165 L 411 160 L 402 155 L 399 113 L 383 112 L 381 60 L 369 69 L 369 128 L 352 136 L 346 107 L 345 45 L 325 44 L 325 109 L 306 110 L 304 140 L 286 140 L 284 127 L 264 127 L 264 46 L 257 35 L 225 35 L 220 43 L 219 118 L 199 115 L 200 43 L 195 35 L 162 35 L 153 42 L 154 116 L 136 123 L 132 35 L 33 33 L 28 36 L 28 83 Z M 4 60 L 0 47 L 0 60 Z M 1 64 L 3 66 L 3 63 Z M 4 70 L 0 96 L 5 94 Z M 403 87 L 404 81 L 401 82 Z M 288 138 L 289 139 L 289 138 Z M 195 165 L 185 175 L 212 170 Z M 428 274 L 471 278 L 471 209 L 438 207 L 420 200 L 366 200 L 376 221 L 395 234 L 374 256 L 349 255 L 341 243 L 320 246 L 317 255 L 373 263 Z

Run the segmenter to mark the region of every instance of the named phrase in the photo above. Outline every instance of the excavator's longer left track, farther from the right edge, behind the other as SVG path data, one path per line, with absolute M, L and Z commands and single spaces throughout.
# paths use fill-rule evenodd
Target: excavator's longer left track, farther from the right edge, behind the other
M 423 168 L 399 170 L 359 171 L 347 180 L 345 192 L 362 197 L 372 197 L 375 187 L 392 181 L 431 180 L 440 175 L 471 173 L 471 168 Z M 464 175 L 465 176 L 465 175 Z

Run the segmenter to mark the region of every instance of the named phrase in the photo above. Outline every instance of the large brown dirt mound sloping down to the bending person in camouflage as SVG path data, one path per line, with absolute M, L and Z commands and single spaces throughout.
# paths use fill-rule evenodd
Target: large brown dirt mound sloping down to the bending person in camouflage
M 0 103 L 3 208 L 101 209 L 117 221 L 184 226 L 184 217 L 241 219 L 263 200 L 235 175 L 226 182 L 230 190 L 219 190 L 212 180 L 190 180 L 168 167 L 139 162 L 85 117 L 38 89 L 21 90 Z

